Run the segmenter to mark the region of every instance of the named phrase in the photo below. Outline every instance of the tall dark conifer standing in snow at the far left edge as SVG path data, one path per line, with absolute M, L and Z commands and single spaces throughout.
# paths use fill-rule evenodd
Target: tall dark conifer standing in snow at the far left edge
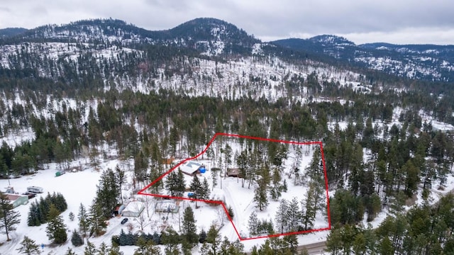
M 16 230 L 16 225 L 21 222 L 21 214 L 13 210 L 13 204 L 4 193 L 0 193 L 0 232 L 6 234 L 9 241 L 9 233 Z

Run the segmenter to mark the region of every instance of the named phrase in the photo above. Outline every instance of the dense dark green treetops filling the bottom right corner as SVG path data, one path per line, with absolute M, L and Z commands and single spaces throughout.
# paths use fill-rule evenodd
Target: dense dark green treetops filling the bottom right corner
M 387 217 L 377 229 L 338 225 L 328 236 L 331 254 L 451 254 L 453 239 L 453 195 L 441 198 L 436 205 L 414 206 L 408 212 Z

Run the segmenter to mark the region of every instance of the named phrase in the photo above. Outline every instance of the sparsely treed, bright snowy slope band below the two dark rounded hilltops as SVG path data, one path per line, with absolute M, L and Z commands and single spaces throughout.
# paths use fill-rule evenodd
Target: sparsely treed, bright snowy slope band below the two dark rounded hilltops
M 222 50 L 224 46 L 219 43 L 216 47 Z M 305 101 L 308 93 L 304 80 L 309 74 L 316 74 L 320 81 L 339 82 L 339 86 L 362 82 L 361 74 L 347 69 L 311 60 L 289 63 L 284 57 L 266 55 L 260 43 L 253 45 L 253 56 L 231 56 L 222 61 L 204 58 L 220 51 L 202 52 L 199 57 L 176 52 L 175 57 L 156 60 L 150 50 L 96 47 L 88 42 L 23 42 L 0 46 L 0 52 L 0 67 L 4 69 L 32 69 L 39 77 L 68 83 L 95 77 L 104 83 L 101 89 L 116 87 L 143 93 L 170 89 L 189 96 Z M 156 54 L 160 52 L 158 48 Z M 301 80 L 289 87 L 295 77 Z

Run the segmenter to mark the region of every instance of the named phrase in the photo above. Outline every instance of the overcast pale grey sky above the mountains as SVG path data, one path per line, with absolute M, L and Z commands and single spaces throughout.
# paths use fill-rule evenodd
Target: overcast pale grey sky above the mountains
M 219 18 L 262 41 L 340 35 L 360 44 L 454 45 L 451 0 L 1 0 L 0 28 L 118 18 L 164 30 Z

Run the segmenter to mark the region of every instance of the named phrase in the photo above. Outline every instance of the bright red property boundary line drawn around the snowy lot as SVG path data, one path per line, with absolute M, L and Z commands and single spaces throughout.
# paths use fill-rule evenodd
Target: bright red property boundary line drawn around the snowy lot
M 226 208 L 226 205 L 219 200 L 203 200 L 203 199 L 194 199 L 194 198 L 182 198 L 182 197 L 174 197 L 174 196 L 165 196 L 165 195 L 160 195 L 160 194 L 151 194 L 151 193 L 144 193 L 144 191 L 147 190 L 147 188 L 150 188 L 150 186 L 153 186 L 153 184 L 157 183 L 157 181 L 160 181 L 160 179 L 164 178 L 167 174 L 170 174 L 170 172 L 174 171 L 177 169 L 178 166 L 181 164 L 184 164 L 184 162 L 187 162 L 189 160 L 196 159 L 201 156 L 201 154 L 204 154 L 206 152 L 206 149 L 211 145 L 212 142 L 216 139 L 217 136 L 226 136 L 226 137 L 238 137 L 238 138 L 245 138 L 245 139 L 253 139 L 253 140 L 262 140 L 262 141 L 267 141 L 267 142 L 281 142 L 281 143 L 287 143 L 287 144 L 293 144 L 293 145 L 320 145 L 320 151 L 321 151 L 321 162 L 323 163 L 323 174 L 325 176 L 325 186 L 326 186 L 326 212 L 328 215 L 328 227 L 324 227 L 321 229 L 311 229 L 311 230 L 304 230 L 304 231 L 299 231 L 299 232 L 289 232 L 289 233 L 283 233 L 283 234 L 270 234 L 267 236 L 262 236 L 262 237 L 249 237 L 249 238 L 241 238 L 240 234 L 238 233 L 238 230 L 236 229 L 235 224 L 233 224 L 233 220 L 231 219 L 230 215 L 228 215 L 228 210 Z M 285 236 L 285 235 L 290 235 L 290 234 L 306 234 L 310 232 L 319 232 L 319 231 L 324 231 L 324 230 L 331 230 L 331 213 L 329 210 L 329 196 L 328 196 L 328 178 L 326 177 L 326 164 L 325 164 L 325 155 L 323 153 L 323 145 L 322 142 L 292 142 L 292 141 L 284 141 L 284 140 L 275 140 L 275 139 L 270 139 L 270 138 L 263 138 L 263 137 L 250 137 L 247 135 L 236 135 L 236 134 L 226 134 L 226 133 L 216 133 L 214 134 L 214 137 L 211 138 L 210 142 L 208 145 L 206 145 L 206 148 L 197 154 L 194 157 L 190 157 L 187 159 L 184 159 L 182 162 L 179 162 L 177 165 L 172 167 L 169 171 L 165 172 L 165 174 L 162 174 L 162 176 L 158 177 L 155 181 L 152 183 L 148 184 L 148 186 L 145 186 L 145 188 L 141 189 L 138 192 L 139 195 L 145 195 L 145 196 L 155 196 L 155 197 L 160 197 L 160 198 L 175 198 L 175 199 L 182 199 L 182 200 L 192 200 L 192 201 L 201 201 L 205 203 L 215 203 L 222 205 L 224 211 L 226 212 L 226 215 L 228 217 L 228 220 L 232 223 L 233 229 L 235 229 L 236 234 L 238 235 L 238 238 L 240 241 L 245 241 L 245 240 L 252 240 L 252 239 L 260 239 L 260 238 L 267 238 L 267 237 L 280 237 L 280 236 Z

